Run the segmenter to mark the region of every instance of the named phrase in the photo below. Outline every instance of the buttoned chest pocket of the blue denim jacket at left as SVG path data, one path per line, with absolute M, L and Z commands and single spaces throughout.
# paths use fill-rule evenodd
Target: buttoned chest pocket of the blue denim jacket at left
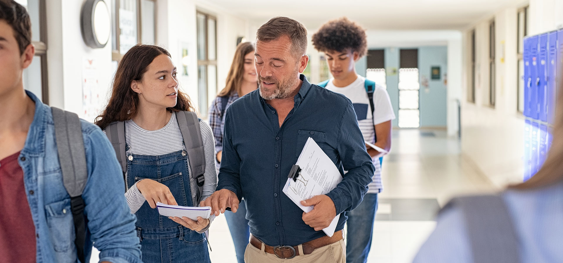
M 74 241 L 74 222 L 70 211 L 70 199 L 52 202 L 45 206 L 51 242 L 56 252 L 67 252 Z

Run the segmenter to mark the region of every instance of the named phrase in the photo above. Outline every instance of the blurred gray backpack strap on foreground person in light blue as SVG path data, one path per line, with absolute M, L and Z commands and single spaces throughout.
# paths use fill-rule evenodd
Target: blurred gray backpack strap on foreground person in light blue
M 450 206 L 462 210 L 473 262 L 520 262 L 518 238 L 508 208 L 500 195 L 456 197 L 444 209 Z

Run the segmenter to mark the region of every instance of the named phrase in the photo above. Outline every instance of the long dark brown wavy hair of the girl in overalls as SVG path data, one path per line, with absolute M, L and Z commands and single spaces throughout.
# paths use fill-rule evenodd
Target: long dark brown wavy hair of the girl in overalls
M 111 91 L 108 105 L 102 114 L 96 117 L 95 123 L 97 126 L 103 129 L 111 122 L 127 121 L 135 116 L 139 98 L 138 94 L 131 89 L 131 82 L 133 80 L 140 81 L 153 59 L 162 54 L 171 57 L 170 53 L 164 48 L 137 44 L 123 55 L 115 72 L 113 91 Z M 178 89 L 176 105 L 166 109 L 170 112 L 195 111 L 190 97 L 180 89 Z

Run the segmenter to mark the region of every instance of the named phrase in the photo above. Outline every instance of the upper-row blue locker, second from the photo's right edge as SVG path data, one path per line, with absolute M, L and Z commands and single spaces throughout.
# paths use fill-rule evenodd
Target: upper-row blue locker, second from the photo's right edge
M 549 33 L 547 55 L 547 122 L 553 124 L 555 117 L 555 91 L 557 90 L 557 31 Z

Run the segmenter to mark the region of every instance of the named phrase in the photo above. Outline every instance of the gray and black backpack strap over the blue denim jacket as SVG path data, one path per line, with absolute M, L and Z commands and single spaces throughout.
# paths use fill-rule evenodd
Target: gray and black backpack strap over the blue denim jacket
M 55 141 L 59 153 L 62 182 L 70 196 L 70 211 L 74 222 L 74 245 L 78 260 L 85 262 L 86 216 L 82 192 L 88 180 L 86 153 L 82 140 L 82 127 L 78 115 L 58 108 L 51 108 L 55 123 Z M 64 160 L 64 162 L 61 162 Z

